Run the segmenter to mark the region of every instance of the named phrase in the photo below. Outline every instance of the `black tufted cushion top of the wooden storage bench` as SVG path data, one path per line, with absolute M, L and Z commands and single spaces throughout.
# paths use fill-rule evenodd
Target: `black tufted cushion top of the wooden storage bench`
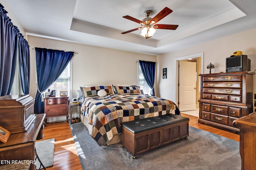
M 183 121 L 189 121 L 188 117 L 180 115 L 168 114 L 156 117 L 148 117 L 145 119 L 139 119 L 134 121 L 122 122 L 121 125 L 131 131 L 132 133 L 140 133 L 158 127 L 172 125 L 174 123 L 180 123 Z

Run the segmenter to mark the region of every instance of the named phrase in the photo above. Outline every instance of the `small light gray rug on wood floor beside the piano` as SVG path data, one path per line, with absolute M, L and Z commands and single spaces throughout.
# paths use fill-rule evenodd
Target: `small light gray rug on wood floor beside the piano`
M 53 165 L 54 141 L 55 139 L 47 139 L 36 142 L 36 152 L 45 168 Z M 40 162 L 36 159 L 36 169 L 39 167 Z

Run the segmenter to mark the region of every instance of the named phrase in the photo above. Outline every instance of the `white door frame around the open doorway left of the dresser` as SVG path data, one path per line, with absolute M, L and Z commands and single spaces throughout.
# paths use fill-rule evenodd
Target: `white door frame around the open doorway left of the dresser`
M 203 74 L 204 72 L 204 53 L 197 53 L 197 54 L 192 54 L 192 55 L 187 55 L 187 56 L 183 56 L 183 57 L 178 57 L 178 58 L 175 58 L 175 65 L 174 65 L 174 69 L 175 69 L 175 75 L 176 75 L 176 78 L 175 78 L 175 86 L 174 86 L 174 95 L 176 96 L 176 101 L 175 103 L 178 105 L 178 99 L 179 99 L 179 96 L 177 94 L 179 94 L 179 88 L 178 88 L 178 82 L 179 82 L 179 61 L 181 60 L 186 60 L 186 59 L 190 59 L 190 58 L 197 58 L 197 57 L 200 57 L 201 58 L 201 72 L 200 74 Z

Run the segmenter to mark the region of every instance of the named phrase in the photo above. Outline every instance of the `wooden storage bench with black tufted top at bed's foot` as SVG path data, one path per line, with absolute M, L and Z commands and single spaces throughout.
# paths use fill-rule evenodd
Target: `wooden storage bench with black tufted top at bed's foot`
M 187 139 L 189 118 L 168 114 L 121 123 L 122 147 L 132 158 L 149 150 Z

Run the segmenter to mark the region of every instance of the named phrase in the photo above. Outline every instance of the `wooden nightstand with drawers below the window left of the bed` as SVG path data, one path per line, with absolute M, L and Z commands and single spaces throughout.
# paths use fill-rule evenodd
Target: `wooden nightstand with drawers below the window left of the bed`
M 68 122 L 68 97 L 49 97 L 44 99 L 44 113 L 47 118 L 66 116 Z

